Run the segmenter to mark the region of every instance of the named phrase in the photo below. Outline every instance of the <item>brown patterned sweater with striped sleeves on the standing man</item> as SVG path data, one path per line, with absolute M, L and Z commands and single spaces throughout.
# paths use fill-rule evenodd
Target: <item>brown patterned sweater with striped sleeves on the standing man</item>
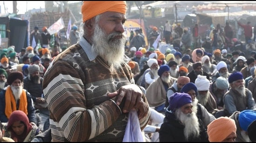
M 111 71 L 81 37 L 54 59 L 44 76 L 52 141 L 122 142 L 128 113 L 122 113 L 107 94 L 128 84 L 134 84 L 128 64 L 123 62 L 121 68 Z M 144 94 L 142 98 L 148 105 Z M 148 110 L 139 120 L 141 130 L 149 118 Z

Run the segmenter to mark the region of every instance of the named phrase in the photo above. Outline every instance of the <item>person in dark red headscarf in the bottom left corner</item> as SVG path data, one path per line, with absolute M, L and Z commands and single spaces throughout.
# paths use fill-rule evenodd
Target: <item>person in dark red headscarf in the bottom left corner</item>
M 41 133 L 40 128 L 30 124 L 27 115 L 20 110 L 12 112 L 5 129 L 5 137 L 15 142 L 31 142 L 34 136 Z

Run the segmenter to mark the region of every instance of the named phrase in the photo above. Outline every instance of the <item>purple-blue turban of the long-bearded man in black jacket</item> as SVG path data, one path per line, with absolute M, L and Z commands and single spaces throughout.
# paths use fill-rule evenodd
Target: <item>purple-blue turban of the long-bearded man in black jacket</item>
M 188 103 L 192 103 L 192 99 L 189 94 L 176 92 L 169 97 L 169 110 L 175 112 L 176 109 Z

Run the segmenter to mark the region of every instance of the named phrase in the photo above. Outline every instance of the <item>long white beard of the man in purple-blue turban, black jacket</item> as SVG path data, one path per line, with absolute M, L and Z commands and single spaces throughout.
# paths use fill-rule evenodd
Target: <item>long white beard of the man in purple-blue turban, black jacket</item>
M 200 127 L 195 112 L 184 114 L 180 109 L 177 109 L 175 115 L 185 126 L 184 136 L 186 141 L 188 141 L 189 137 L 199 136 Z

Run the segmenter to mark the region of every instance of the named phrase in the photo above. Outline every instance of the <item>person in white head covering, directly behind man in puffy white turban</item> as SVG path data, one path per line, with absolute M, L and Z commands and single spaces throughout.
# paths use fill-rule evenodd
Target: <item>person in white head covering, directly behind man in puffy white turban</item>
M 205 55 L 202 57 L 202 71 L 206 72 L 209 76 L 213 75 L 216 65 L 210 62 L 209 56 Z

